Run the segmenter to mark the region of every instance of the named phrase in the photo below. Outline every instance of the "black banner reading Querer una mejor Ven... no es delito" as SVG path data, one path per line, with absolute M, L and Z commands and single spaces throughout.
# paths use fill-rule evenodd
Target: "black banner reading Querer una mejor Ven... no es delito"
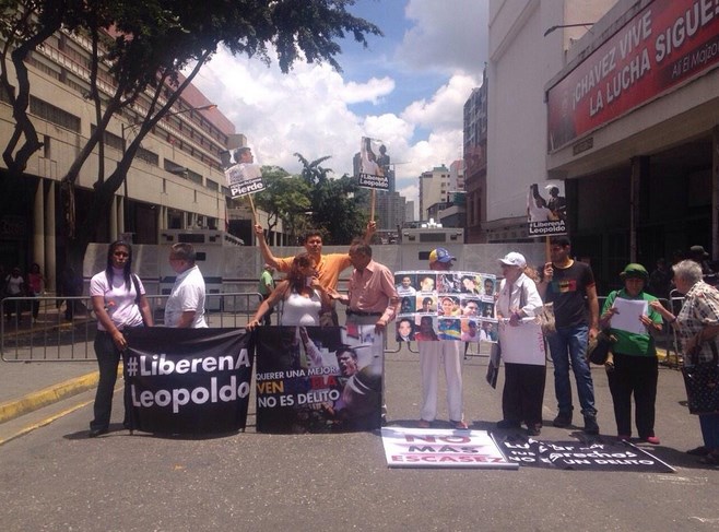
M 258 431 L 380 427 L 384 342 L 374 326 L 264 327 L 257 353 Z

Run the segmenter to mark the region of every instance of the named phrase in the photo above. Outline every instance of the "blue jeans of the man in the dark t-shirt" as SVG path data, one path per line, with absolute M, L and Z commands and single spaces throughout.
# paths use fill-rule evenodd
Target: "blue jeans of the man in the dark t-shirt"
M 585 358 L 587 353 L 587 326 L 557 327 L 554 334 L 547 336 L 552 362 L 554 363 L 554 393 L 556 394 L 559 413 L 571 415 L 571 383 L 569 382 L 569 365 L 577 381 L 577 394 L 581 413 L 586 416 L 596 416 L 594 386 L 591 380 L 591 370 Z

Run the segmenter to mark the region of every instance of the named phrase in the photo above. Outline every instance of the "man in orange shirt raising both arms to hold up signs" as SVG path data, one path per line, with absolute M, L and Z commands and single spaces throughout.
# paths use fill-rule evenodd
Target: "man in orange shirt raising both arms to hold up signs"
M 370 221 L 367 224 L 364 236 L 362 237 L 363 244 L 369 244 L 372 237 L 377 230 L 377 222 Z M 294 257 L 276 258 L 272 255 L 270 246 L 264 239 L 264 229 L 261 225 L 255 225 L 255 236 L 260 246 L 260 252 L 264 258 L 264 262 L 275 268 L 279 272 L 287 273 L 292 268 Z M 310 232 L 305 235 L 305 250 L 315 260 L 315 268 L 317 279 L 326 291 L 337 289 L 337 283 L 340 280 L 340 273 L 352 265 L 352 260 L 349 253 L 330 253 L 322 255 L 322 235 L 318 232 Z M 332 309 L 332 322 L 339 326 L 337 312 Z

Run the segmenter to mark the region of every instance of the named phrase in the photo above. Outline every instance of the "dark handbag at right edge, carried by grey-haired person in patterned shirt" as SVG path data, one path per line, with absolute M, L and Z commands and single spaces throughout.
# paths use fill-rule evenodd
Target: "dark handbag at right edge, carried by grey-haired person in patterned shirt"
M 711 362 L 698 362 L 699 344 L 685 354 L 692 362 L 691 366 L 686 363 L 682 366 L 689 414 L 719 413 L 719 354 L 716 342 L 711 341 L 710 345 L 714 355 Z

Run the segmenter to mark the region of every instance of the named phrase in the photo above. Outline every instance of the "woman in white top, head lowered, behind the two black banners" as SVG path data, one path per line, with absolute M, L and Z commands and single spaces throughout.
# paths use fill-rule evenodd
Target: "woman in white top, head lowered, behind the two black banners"
M 309 253 L 295 257 L 287 276 L 260 304 L 247 329 L 251 331 L 259 326 L 262 317 L 279 302 L 283 302 L 281 326 L 319 326 L 319 317 L 331 308 L 331 300 L 316 276 L 316 265 Z

